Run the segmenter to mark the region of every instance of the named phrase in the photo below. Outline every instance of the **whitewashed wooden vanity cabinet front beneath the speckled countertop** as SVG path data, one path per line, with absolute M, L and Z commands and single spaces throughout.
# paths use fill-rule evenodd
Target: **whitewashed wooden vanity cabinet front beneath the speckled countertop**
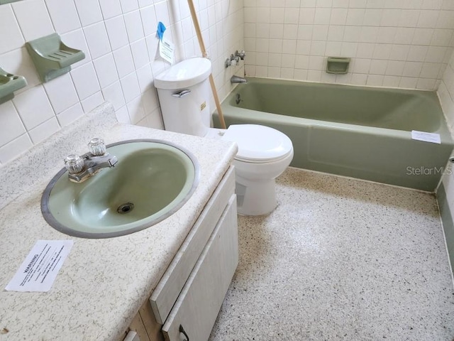
M 238 265 L 235 171 L 228 169 L 131 323 L 140 341 L 204 341 Z

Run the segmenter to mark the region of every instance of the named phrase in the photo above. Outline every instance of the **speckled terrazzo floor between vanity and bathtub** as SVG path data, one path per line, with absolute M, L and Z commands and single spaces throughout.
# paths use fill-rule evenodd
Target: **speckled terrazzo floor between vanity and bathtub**
M 436 200 L 288 168 L 279 206 L 238 217 L 240 264 L 210 340 L 454 338 Z

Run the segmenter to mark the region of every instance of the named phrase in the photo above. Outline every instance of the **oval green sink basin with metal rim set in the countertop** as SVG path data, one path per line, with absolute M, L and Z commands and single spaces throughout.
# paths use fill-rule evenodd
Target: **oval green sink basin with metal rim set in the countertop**
M 177 212 L 199 181 L 196 158 L 160 140 L 131 140 L 107 146 L 118 158 L 83 183 L 66 168 L 41 199 L 45 220 L 65 234 L 109 238 L 140 231 Z

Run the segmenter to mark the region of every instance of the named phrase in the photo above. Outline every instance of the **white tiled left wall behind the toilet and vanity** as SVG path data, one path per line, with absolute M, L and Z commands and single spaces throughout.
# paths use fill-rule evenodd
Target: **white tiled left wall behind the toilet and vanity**
M 223 99 L 233 72 L 243 73 L 243 67 L 223 67 L 228 55 L 244 48 L 243 0 L 194 5 Z M 294 13 L 288 16 L 296 20 Z M 162 129 L 153 79 L 169 65 L 157 55 L 158 21 L 175 43 L 177 61 L 200 55 L 187 0 L 23 0 L 0 6 L 0 67 L 28 81 L 0 105 L 0 165 L 106 100 L 119 121 Z M 53 32 L 86 58 L 42 84 L 24 44 Z

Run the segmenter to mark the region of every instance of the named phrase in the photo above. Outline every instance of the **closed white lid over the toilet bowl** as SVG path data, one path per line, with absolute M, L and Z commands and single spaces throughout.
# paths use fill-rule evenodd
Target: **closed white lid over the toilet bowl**
M 239 161 L 276 161 L 293 150 L 292 141 L 287 135 L 258 124 L 233 124 L 228 127 L 222 139 L 238 144 L 235 158 Z

